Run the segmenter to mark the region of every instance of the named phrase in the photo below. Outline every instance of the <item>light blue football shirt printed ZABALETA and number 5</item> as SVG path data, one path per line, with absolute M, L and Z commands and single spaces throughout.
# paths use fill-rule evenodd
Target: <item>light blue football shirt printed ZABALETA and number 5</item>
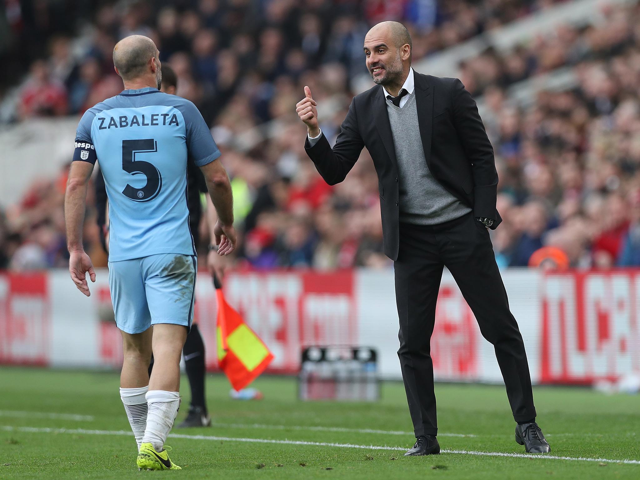
M 187 161 L 220 157 L 200 111 L 157 88 L 124 90 L 84 113 L 74 161 L 100 163 L 109 198 L 109 261 L 196 255 Z

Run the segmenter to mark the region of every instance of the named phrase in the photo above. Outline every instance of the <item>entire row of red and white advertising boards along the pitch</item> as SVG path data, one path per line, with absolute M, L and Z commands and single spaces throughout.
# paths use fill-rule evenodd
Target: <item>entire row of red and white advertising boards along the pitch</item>
M 640 372 L 640 270 L 502 273 L 535 383 L 588 385 Z M 63 270 L 0 273 L 0 364 L 114 368 L 122 340 L 106 271 L 85 298 Z M 195 321 L 217 369 L 216 297 L 198 278 Z M 297 373 L 305 346 L 376 348 L 400 378 L 392 277 L 372 271 L 230 272 L 225 296 L 272 351 L 272 372 Z M 425 332 L 426 333 L 426 332 Z M 431 356 L 438 380 L 500 382 L 490 344 L 452 278 L 444 278 Z

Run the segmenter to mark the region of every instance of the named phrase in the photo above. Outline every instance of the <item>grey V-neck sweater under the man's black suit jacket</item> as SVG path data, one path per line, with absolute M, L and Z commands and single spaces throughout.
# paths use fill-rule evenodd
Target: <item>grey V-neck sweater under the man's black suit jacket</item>
M 415 90 L 403 108 L 387 100 L 387 113 L 396 147 L 400 221 L 437 225 L 470 212 L 429 172 L 420 140 Z

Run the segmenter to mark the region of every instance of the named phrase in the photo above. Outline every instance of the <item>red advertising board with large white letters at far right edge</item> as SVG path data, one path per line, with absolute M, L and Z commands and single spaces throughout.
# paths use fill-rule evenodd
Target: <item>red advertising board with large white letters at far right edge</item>
M 640 274 L 549 274 L 541 288 L 541 383 L 593 383 L 640 371 Z

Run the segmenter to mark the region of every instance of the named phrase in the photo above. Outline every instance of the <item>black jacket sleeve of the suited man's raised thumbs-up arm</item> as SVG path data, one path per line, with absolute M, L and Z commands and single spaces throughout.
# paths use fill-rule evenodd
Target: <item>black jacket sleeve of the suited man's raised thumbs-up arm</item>
M 329 145 L 324 133 L 313 147 L 309 143 L 308 136 L 305 141 L 307 155 L 316 165 L 324 181 L 330 185 L 344 180 L 360 157 L 362 148 L 364 148 L 364 141 L 358 132 L 355 99 L 351 101 L 349 113 L 340 125 L 340 133 L 333 148 Z

